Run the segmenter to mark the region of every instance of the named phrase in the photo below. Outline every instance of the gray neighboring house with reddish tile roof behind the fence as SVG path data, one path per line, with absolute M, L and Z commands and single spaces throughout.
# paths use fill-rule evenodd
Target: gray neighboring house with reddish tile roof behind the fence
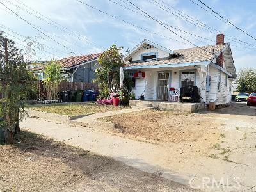
M 100 53 L 63 58 L 58 62 L 63 66 L 64 76 L 70 82 L 91 83 L 95 79 L 95 69 Z

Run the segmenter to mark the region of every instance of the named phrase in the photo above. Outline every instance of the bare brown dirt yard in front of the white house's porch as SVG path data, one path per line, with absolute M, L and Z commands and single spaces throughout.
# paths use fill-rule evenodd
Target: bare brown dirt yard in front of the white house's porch
M 146 110 L 137 113 L 102 118 L 113 122 L 116 129 L 110 131 L 129 137 L 141 137 L 159 143 L 184 143 L 197 140 L 218 140 L 221 120 L 211 123 L 209 117 L 197 113 Z

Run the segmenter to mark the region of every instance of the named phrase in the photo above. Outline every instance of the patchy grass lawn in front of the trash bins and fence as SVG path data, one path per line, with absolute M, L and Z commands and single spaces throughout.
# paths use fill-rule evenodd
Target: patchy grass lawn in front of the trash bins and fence
M 33 106 L 31 109 L 37 111 L 44 111 L 49 113 L 58 113 L 61 115 L 76 116 L 76 115 L 87 115 L 92 113 L 101 113 L 106 111 L 115 111 L 128 107 L 116 107 L 106 106 L 97 103 L 87 104 L 63 104 L 63 105 L 51 105 L 51 106 Z

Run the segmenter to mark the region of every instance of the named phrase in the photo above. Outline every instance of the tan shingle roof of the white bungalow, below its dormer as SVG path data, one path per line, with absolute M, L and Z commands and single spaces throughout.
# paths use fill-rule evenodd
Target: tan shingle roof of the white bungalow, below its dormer
M 207 45 L 204 47 L 193 47 L 189 49 L 179 49 L 174 50 L 178 54 L 182 54 L 182 56 L 178 56 L 176 58 L 171 58 L 169 60 L 156 60 L 156 61 L 144 61 L 139 63 L 129 63 L 125 62 L 126 66 L 136 66 L 136 65 L 164 65 L 164 64 L 177 64 L 177 63 L 191 63 L 195 61 L 208 61 L 211 60 L 214 55 L 210 52 L 217 53 L 221 51 L 225 47 L 226 44 L 223 45 Z

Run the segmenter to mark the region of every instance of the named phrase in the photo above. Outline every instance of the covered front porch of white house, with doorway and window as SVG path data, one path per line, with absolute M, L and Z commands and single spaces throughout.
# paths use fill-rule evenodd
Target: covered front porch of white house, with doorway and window
M 204 102 L 207 64 L 209 63 L 197 62 L 186 63 L 186 66 L 180 66 L 180 64 L 172 66 L 156 65 L 153 67 L 135 66 L 125 69 L 134 81 L 132 92 L 136 100 L 141 100 L 142 96 L 144 100 L 164 101 L 163 104 L 166 102 L 180 102 L 184 101 L 180 98 L 181 88 L 191 87 L 192 90 L 194 88 L 195 92 L 198 93 L 196 96 L 198 98 L 192 98 L 188 102 Z M 178 93 L 178 97 L 173 97 L 175 92 Z M 188 96 L 192 97 L 191 95 Z

